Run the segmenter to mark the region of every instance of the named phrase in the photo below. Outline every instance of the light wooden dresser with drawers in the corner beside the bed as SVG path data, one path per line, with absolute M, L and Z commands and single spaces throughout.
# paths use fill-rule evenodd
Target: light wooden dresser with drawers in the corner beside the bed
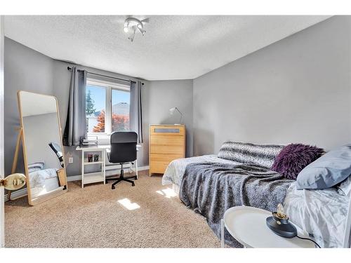
M 150 176 L 164 173 L 175 159 L 185 158 L 184 125 L 150 125 Z

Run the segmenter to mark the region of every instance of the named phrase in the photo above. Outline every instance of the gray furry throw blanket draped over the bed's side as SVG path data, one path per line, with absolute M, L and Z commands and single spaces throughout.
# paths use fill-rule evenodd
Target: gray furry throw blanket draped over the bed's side
M 190 163 L 185 168 L 179 196 L 187 207 L 206 217 L 209 227 L 220 238 L 220 220 L 225 210 L 249 205 L 275 211 L 292 182 L 253 164 Z M 225 243 L 241 247 L 227 231 Z

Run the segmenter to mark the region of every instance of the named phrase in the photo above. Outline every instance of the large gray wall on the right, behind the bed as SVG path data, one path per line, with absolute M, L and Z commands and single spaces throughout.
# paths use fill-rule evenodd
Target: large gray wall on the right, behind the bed
M 350 143 L 350 25 L 330 18 L 194 79 L 194 154 L 225 140 Z

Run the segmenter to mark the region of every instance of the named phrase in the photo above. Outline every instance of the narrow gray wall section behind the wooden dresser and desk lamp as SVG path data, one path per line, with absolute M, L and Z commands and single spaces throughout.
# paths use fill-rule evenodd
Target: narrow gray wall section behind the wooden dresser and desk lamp
M 149 141 L 150 124 L 179 123 L 179 114 L 170 114 L 169 109 L 178 107 L 183 113 L 187 129 L 187 156 L 192 156 L 192 80 L 150 81 L 143 90 L 143 129 L 145 142 Z

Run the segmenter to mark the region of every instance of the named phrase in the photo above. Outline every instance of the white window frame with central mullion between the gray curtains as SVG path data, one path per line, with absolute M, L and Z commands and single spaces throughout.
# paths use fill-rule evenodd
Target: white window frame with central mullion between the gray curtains
M 104 137 L 112 133 L 112 90 L 123 90 L 131 92 L 131 88 L 127 85 L 114 83 L 110 81 L 102 81 L 100 79 L 88 78 L 86 79 L 86 86 L 98 86 L 105 88 L 106 100 L 105 100 L 105 133 L 88 133 L 88 136 Z

